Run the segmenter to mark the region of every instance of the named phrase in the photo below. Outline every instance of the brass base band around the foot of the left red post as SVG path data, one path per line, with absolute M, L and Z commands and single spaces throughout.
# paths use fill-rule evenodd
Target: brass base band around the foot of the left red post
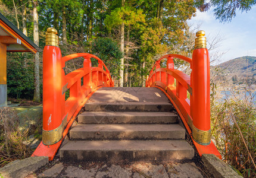
M 67 115 L 68 115 L 68 113 L 67 113 Z M 42 133 L 43 145 L 53 145 L 53 144 L 57 143 L 58 141 L 60 141 L 61 138 L 63 138 L 63 131 L 64 131 L 65 126 L 67 125 L 67 115 L 63 119 L 63 122 L 61 123 L 61 125 L 58 126 L 58 128 L 56 128 L 52 131 L 43 130 L 43 133 Z

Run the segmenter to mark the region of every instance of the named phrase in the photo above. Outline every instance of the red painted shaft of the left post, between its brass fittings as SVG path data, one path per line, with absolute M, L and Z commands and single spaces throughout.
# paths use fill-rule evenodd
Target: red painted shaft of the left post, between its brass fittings
M 63 119 L 61 115 L 63 109 L 62 70 L 60 48 L 45 46 L 43 49 L 43 130 L 45 131 L 58 128 Z

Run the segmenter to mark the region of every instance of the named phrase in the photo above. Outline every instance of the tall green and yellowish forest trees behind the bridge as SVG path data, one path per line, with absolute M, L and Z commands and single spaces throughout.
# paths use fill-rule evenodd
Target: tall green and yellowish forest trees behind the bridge
M 1 13 L 39 46 L 35 59 L 29 54 L 9 54 L 8 95 L 18 98 L 33 98 L 34 81 L 36 88 L 42 87 L 42 50 L 48 27 L 57 29 L 63 56 L 93 53 L 105 62 L 117 86 L 139 87 L 145 86 L 146 75 L 160 56 L 179 53 L 191 57 L 195 34 L 186 20 L 203 4 L 158 0 L 0 2 Z M 79 61 L 67 66 L 67 71 L 73 71 Z M 35 80 L 34 68 L 39 71 Z M 35 90 L 35 101 L 40 101 L 39 91 Z

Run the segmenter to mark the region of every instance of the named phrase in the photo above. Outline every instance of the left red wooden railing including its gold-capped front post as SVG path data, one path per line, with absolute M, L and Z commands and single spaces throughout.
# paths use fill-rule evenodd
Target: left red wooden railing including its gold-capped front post
M 114 87 L 110 71 L 98 57 L 76 53 L 62 58 L 56 34 L 54 28 L 48 28 L 43 50 L 43 138 L 32 155 L 48 156 L 49 160 L 54 158 L 88 98 L 101 87 Z M 65 62 L 79 57 L 84 58 L 83 68 L 65 75 Z M 92 67 L 90 58 L 97 59 L 97 67 Z M 68 90 L 69 97 L 65 100 Z

